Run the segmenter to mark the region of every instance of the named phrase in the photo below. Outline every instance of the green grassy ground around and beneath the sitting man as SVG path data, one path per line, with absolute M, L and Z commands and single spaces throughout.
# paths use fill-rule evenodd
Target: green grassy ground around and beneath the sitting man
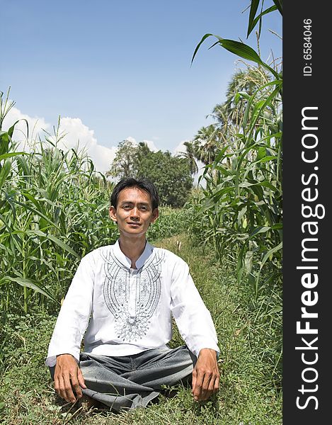
M 273 380 L 275 367 L 271 361 L 280 336 L 268 330 L 265 316 L 253 309 L 231 268 L 216 266 L 212 255 L 193 248 L 184 237 L 164 239 L 156 245 L 174 251 L 189 263 L 212 314 L 221 347 L 222 379 L 217 396 L 197 403 L 190 389 L 178 387 L 176 397 L 160 396 L 159 402 L 147 409 L 120 414 L 65 404 L 55 397 L 44 365 L 56 317 L 31 312 L 28 317 L 8 317 L 2 331 L 6 344 L 1 341 L 5 347 L 4 364 L 0 365 L 1 424 L 282 424 L 282 396 L 276 388 L 278 382 Z M 171 346 L 179 344 L 183 341 L 175 329 Z

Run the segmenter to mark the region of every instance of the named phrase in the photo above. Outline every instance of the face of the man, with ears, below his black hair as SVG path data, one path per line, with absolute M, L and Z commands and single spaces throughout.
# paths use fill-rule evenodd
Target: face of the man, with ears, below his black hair
M 152 210 L 149 193 L 139 188 L 123 189 L 118 196 L 117 208 L 110 207 L 110 218 L 118 222 L 120 234 L 127 236 L 145 234 L 158 215 L 158 208 Z

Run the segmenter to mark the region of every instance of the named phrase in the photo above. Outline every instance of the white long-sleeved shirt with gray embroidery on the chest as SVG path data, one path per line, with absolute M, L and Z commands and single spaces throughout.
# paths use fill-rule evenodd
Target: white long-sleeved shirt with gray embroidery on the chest
M 55 324 L 46 364 L 69 353 L 79 361 L 84 351 L 103 356 L 131 356 L 166 348 L 173 315 L 185 344 L 219 353 L 217 334 L 190 276 L 188 264 L 147 242 L 136 269 L 120 245 L 102 246 L 84 256 Z

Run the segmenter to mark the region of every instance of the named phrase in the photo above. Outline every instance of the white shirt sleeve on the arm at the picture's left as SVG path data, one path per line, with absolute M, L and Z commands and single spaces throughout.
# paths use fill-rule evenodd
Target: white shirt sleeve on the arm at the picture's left
M 79 361 L 81 341 L 91 314 L 93 281 L 93 257 L 88 254 L 79 263 L 64 298 L 48 348 L 47 365 L 55 365 L 56 356 L 64 353 Z

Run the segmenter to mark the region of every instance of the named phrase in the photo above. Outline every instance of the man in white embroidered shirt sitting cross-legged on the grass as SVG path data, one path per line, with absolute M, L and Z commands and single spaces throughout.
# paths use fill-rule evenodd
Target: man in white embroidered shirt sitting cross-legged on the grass
M 67 402 L 86 395 L 119 411 L 192 380 L 194 399 L 206 400 L 219 388 L 217 334 L 188 264 L 147 242 L 156 188 L 122 179 L 110 204 L 120 238 L 84 256 L 71 282 L 46 359 L 55 390 Z M 167 346 L 172 316 L 186 344 L 175 349 Z

